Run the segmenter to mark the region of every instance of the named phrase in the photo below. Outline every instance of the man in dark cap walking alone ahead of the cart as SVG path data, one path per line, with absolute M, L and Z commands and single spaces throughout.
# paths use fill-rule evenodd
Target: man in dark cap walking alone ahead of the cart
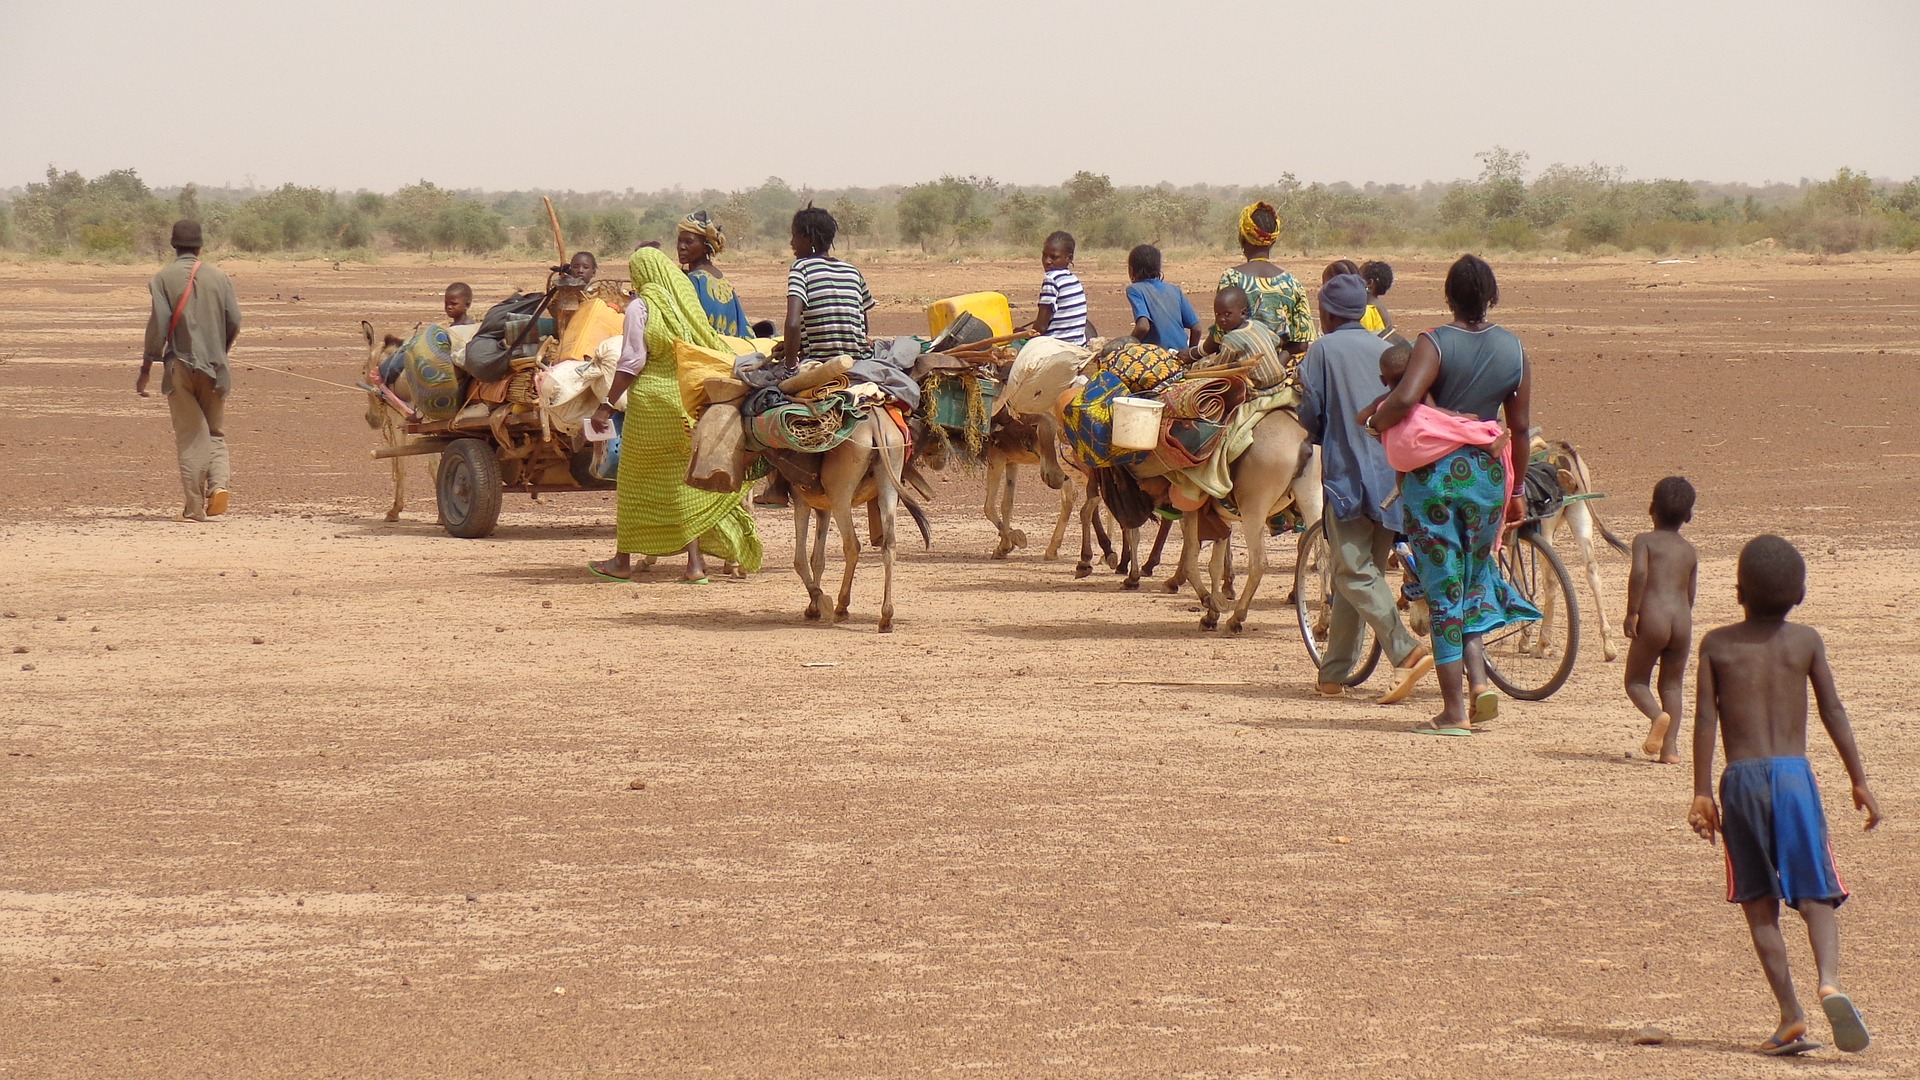
M 200 242 L 198 221 L 173 223 L 173 261 L 146 286 L 152 300 L 146 350 L 132 384 L 146 398 L 154 363 L 167 365 L 159 388 L 173 413 L 173 446 L 186 490 L 180 521 L 227 513 L 227 390 L 232 384 L 227 350 L 240 336 L 234 284 L 200 261 Z

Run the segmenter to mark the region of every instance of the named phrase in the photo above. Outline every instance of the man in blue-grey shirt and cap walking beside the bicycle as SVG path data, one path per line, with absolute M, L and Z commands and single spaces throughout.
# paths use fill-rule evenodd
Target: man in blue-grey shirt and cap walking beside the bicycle
M 1359 659 L 1361 621 L 1394 661 L 1394 686 L 1380 703 L 1404 700 L 1428 671 L 1432 650 L 1407 632 L 1380 567 L 1400 532 L 1400 503 L 1380 507 L 1398 490 L 1380 440 L 1359 427 L 1359 411 L 1380 396 L 1380 354 L 1388 344 L 1359 325 L 1367 313 L 1367 284 L 1359 275 L 1336 275 L 1321 286 L 1321 336 L 1300 361 L 1306 388 L 1300 423 L 1321 448 L 1327 490 L 1327 544 L 1332 548 L 1332 625 L 1321 655 L 1319 692 L 1344 694 L 1344 678 Z

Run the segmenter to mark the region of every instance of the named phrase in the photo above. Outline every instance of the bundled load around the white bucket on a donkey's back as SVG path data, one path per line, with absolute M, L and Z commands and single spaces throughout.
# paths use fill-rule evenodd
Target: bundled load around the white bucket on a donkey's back
M 1116 411 L 1152 411 L 1150 402 L 1158 402 L 1158 438 L 1148 432 L 1146 440 L 1116 442 Z M 1208 367 L 1185 367 L 1175 352 L 1114 338 L 1068 398 L 1062 442 L 1100 479 L 1108 509 L 1135 528 L 1156 505 L 1200 511 L 1225 502 L 1233 463 L 1254 444 L 1254 427 L 1298 404 L 1294 365 L 1263 325 L 1225 334 Z

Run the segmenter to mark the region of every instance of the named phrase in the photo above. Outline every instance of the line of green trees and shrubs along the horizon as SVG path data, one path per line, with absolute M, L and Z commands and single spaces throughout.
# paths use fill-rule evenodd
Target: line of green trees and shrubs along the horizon
M 1876 183 L 1853 169 L 1799 184 L 1628 181 L 1607 165 L 1548 165 L 1523 152 L 1478 156 L 1473 181 L 1263 186 L 1119 186 L 1073 173 L 1058 186 L 941 177 L 910 186 L 795 190 L 770 177 L 743 190 L 549 192 L 570 248 L 624 258 L 641 240 L 672 242 L 705 208 L 743 250 L 785 248 L 787 221 L 808 202 L 841 225 L 841 246 L 925 254 L 1037 248 L 1069 229 L 1083 250 L 1156 242 L 1231 246 L 1240 206 L 1281 211 L 1283 248 L 1300 254 L 1384 250 L 1709 252 L 1774 244 L 1797 252 L 1920 248 L 1920 179 Z M 392 194 L 284 184 L 273 190 L 152 190 L 132 169 L 94 179 L 48 167 L 46 181 L 0 202 L 0 248 L 36 256 L 132 258 L 165 250 L 177 217 L 200 219 L 209 244 L 246 254 L 551 252 L 541 192 L 459 192 L 430 181 Z

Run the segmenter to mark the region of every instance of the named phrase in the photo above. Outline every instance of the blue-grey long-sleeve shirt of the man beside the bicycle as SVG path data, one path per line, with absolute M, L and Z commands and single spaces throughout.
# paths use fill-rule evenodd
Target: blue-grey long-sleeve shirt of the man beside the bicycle
M 1380 384 L 1380 354 L 1386 342 L 1359 323 L 1348 323 L 1308 346 L 1300 361 L 1300 427 L 1321 448 L 1321 477 L 1334 517 L 1350 521 L 1367 515 L 1400 530 L 1400 503 L 1380 509 L 1400 484 L 1380 440 L 1359 427 L 1359 415 L 1386 392 Z

